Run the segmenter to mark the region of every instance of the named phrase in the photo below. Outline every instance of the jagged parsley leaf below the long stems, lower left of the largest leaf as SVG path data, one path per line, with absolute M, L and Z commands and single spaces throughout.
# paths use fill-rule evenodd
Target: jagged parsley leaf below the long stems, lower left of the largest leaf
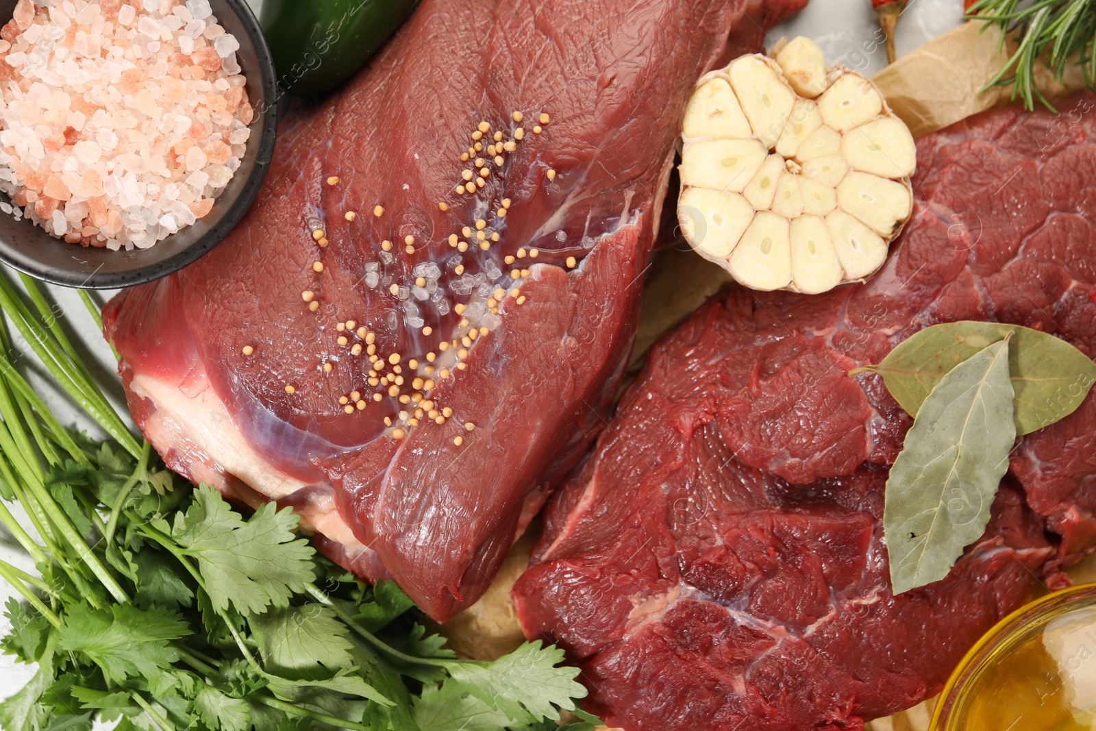
M 162 609 L 76 605 L 69 608 L 58 639 L 62 650 L 87 654 L 103 669 L 107 681 L 123 683 L 133 676 L 155 678 L 171 667 L 179 653 L 170 641 L 190 633 L 179 615 Z

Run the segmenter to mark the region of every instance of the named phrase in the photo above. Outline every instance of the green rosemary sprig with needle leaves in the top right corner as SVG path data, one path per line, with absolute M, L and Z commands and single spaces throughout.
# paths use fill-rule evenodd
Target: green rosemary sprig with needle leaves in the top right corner
M 1028 110 L 1038 99 L 1057 114 L 1035 82 L 1040 58 L 1059 81 L 1070 65 L 1080 66 L 1086 83 L 1096 89 L 1096 0 L 978 0 L 967 18 L 998 25 L 1005 34 L 1015 31 L 1019 41 L 1016 53 L 982 91 L 1012 87 L 1013 100 L 1023 99 Z M 1004 37 L 1001 43 L 1004 47 Z

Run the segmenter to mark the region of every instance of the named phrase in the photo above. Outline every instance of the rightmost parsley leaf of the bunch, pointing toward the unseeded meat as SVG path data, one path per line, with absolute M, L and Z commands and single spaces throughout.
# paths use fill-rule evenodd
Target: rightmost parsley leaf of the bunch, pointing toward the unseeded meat
M 563 651 L 541 648 L 540 640 L 526 642 L 509 655 L 490 663 L 453 663 L 448 666 L 455 692 L 468 693 L 496 708 L 517 723 L 541 718 L 559 720 L 556 706 L 575 708 L 573 698 L 583 698 L 586 689 L 575 683 L 578 667 L 557 667 Z

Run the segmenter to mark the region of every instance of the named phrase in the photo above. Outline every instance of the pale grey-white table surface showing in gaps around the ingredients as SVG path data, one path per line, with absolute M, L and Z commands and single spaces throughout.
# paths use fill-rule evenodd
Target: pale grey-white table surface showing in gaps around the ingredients
M 258 12 L 262 0 L 248 0 Z M 962 22 L 961 0 L 911 0 L 898 33 L 899 55 L 916 48 Z M 812 0 L 806 11 L 791 21 L 773 28 L 767 45 L 781 36 L 806 35 L 814 38 L 826 54 L 831 64 L 842 62 L 868 75 L 875 73 L 887 64 L 886 52 L 879 43 L 879 26 L 868 0 Z M 76 331 L 78 340 L 87 347 L 88 355 L 100 365 L 103 384 L 117 404 L 124 403 L 121 385 L 114 377 L 114 361 L 106 343 L 98 332 L 91 317 L 72 290 L 52 287 L 56 304 L 64 318 Z M 106 293 L 109 294 L 109 293 Z M 32 374 L 33 379 L 33 374 Z M 43 384 L 38 379 L 38 384 Z M 59 392 L 43 387 L 46 402 L 61 423 L 76 424 L 95 432 L 90 422 L 78 413 Z M 16 515 L 18 506 L 16 507 Z M 22 517 L 22 516 L 21 516 Z M 0 526 L 0 558 L 32 571 L 33 566 L 14 538 Z M 14 590 L 0 580 L 0 605 L 14 594 Z M 0 635 L 7 633 L 10 624 L 0 617 Z M 10 655 L 0 655 L 0 699 L 14 694 L 34 674 L 35 667 L 16 663 Z

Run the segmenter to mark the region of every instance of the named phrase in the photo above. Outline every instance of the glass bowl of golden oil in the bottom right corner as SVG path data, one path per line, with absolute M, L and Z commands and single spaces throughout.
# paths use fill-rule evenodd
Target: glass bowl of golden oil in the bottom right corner
M 931 731 L 1096 731 L 1096 583 L 1002 619 L 951 674 Z

